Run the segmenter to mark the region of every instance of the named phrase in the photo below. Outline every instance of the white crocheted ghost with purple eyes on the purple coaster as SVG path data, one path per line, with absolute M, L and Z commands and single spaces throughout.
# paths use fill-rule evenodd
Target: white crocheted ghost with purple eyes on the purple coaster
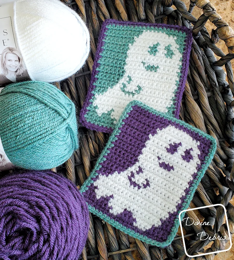
M 199 141 L 169 125 L 149 135 L 138 161 L 127 170 L 99 175 L 94 181 L 96 196 L 112 196 L 110 212 L 117 215 L 125 209 L 136 219 L 134 225 L 143 231 L 161 224 L 169 212 L 176 211 L 188 182 L 200 164 Z

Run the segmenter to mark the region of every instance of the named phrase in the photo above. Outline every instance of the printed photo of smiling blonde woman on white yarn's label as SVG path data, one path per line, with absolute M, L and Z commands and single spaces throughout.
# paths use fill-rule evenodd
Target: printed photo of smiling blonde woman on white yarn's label
M 14 47 L 7 47 L 1 55 L 0 84 L 31 80 L 25 69 L 22 55 Z

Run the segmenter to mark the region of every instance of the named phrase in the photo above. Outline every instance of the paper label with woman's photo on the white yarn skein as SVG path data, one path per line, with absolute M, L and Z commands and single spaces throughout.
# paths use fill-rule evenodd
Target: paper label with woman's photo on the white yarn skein
M 16 40 L 13 3 L 0 5 L 0 86 L 31 80 Z

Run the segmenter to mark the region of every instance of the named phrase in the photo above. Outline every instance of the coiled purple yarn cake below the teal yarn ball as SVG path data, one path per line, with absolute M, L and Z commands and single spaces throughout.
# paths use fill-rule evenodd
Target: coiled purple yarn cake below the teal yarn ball
M 0 259 L 77 260 L 88 229 L 87 205 L 68 179 L 49 170 L 0 179 Z

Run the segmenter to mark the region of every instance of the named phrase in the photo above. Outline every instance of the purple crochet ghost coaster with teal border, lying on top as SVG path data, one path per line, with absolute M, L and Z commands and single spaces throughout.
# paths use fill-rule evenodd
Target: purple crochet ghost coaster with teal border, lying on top
M 167 246 L 215 151 L 210 135 L 132 101 L 80 191 L 115 228 Z

